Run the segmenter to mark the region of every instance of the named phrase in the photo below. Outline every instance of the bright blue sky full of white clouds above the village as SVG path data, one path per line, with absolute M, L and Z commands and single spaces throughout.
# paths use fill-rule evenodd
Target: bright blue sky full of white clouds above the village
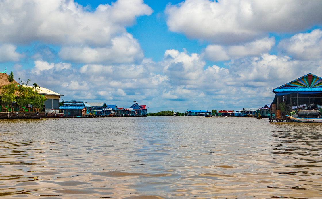
M 320 0 L 0 0 L 0 72 L 61 100 L 242 110 L 322 77 Z

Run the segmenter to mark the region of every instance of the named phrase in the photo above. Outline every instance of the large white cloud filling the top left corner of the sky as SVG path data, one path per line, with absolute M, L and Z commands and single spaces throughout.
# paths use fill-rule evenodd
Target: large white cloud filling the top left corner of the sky
M 143 0 L 118 0 L 87 11 L 73 0 L 0 2 L 0 41 L 15 44 L 43 41 L 104 47 L 126 32 L 137 16 L 152 10 Z

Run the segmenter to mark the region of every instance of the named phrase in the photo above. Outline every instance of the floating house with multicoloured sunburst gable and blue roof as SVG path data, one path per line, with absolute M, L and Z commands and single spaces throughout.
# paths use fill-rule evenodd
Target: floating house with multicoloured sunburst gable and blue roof
M 282 121 L 292 110 L 321 108 L 322 78 L 309 73 L 277 87 L 273 92 L 275 97 L 270 106 L 270 120 Z

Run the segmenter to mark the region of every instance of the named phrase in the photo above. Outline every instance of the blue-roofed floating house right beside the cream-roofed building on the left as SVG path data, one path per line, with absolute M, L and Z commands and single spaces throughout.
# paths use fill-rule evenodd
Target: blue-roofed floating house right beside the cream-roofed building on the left
M 64 101 L 64 104 L 59 107 L 64 110 L 66 117 L 91 117 L 95 107 L 90 106 L 82 101 Z

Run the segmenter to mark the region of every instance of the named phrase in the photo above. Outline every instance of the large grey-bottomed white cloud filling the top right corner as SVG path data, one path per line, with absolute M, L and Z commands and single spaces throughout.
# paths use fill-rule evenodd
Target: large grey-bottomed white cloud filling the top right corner
M 186 0 L 166 7 L 169 30 L 216 44 L 239 44 L 267 32 L 293 33 L 321 24 L 319 0 Z

